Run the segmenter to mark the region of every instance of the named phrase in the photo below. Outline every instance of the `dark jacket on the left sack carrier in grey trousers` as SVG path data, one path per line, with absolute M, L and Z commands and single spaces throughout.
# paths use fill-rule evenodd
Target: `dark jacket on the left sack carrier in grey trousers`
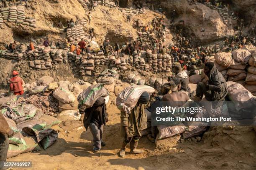
M 102 112 L 102 123 L 106 125 L 108 113 L 106 110 L 105 99 L 104 97 L 100 97 L 96 100 L 96 102 L 92 107 L 89 107 L 84 111 L 84 128 L 86 130 L 90 125 L 90 122 L 92 120 L 92 115 L 95 112 L 95 110 L 100 110 Z

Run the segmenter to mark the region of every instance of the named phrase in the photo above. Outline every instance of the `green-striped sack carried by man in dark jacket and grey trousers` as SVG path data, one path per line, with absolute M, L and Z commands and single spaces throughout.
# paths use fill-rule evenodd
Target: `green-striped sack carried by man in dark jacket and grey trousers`
M 79 102 L 78 109 L 84 111 L 86 108 L 92 107 L 99 97 L 107 97 L 108 90 L 103 83 L 91 85 L 79 94 L 77 100 Z

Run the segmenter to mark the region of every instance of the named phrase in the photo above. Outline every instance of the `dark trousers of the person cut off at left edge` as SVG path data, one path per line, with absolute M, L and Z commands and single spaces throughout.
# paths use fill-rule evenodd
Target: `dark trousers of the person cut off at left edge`
M 3 169 L 3 163 L 6 161 L 9 148 L 9 140 L 6 135 L 0 133 L 0 170 Z

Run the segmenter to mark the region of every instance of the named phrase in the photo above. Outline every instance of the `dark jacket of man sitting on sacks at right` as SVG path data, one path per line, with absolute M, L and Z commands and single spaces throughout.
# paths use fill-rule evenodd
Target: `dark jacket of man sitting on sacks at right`
M 210 101 L 225 100 L 225 97 L 228 94 L 227 83 L 225 78 L 217 70 L 215 65 L 212 67 L 212 70 L 210 71 L 208 77 L 209 90 L 211 91 L 212 94 L 212 99 Z

